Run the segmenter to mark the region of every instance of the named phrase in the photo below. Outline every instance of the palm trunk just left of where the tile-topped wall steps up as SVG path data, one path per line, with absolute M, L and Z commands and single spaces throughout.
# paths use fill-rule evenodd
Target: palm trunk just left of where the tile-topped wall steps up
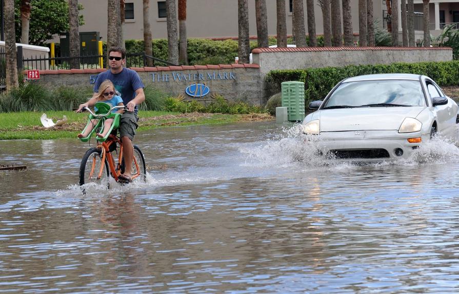
M 239 62 L 249 63 L 249 0 L 237 0 Z

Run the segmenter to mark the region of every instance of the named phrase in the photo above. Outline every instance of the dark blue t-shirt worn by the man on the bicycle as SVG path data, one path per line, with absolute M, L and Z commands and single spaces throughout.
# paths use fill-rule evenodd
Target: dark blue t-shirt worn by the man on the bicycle
M 135 98 L 135 90 L 145 87 L 135 70 L 124 67 L 123 70 L 117 74 L 113 74 L 111 70 L 99 73 L 94 83 L 94 92 L 99 90 L 99 86 L 101 86 L 102 82 L 105 80 L 112 81 L 116 91 L 121 93 L 124 105 L 127 105 L 129 101 Z M 135 106 L 134 111 L 137 113 L 137 106 Z

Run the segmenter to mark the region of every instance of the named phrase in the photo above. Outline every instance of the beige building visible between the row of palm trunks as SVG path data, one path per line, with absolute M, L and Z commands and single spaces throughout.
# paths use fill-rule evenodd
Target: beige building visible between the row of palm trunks
M 98 31 L 107 40 L 107 1 L 79 0 L 84 10 L 85 25 L 81 32 Z M 267 0 L 268 34 L 276 35 L 276 1 Z M 317 34 L 323 33 L 322 10 L 314 1 Z M 358 32 L 358 1 L 351 2 L 352 26 Z M 373 0 L 373 15 L 382 25 L 383 0 Z M 306 18 L 306 1 L 305 18 Z M 385 7 L 385 6 L 384 6 Z M 287 33 L 292 33 L 291 0 L 286 0 Z M 166 38 L 166 2 L 150 0 L 150 26 L 153 38 Z M 256 36 L 255 0 L 249 0 L 250 35 Z M 307 21 L 305 19 L 306 31 Z M 177 25 L 178 26 L 178 25 Z M 142 0 L 126 0 L 125 39 L 143 39 Z M 193 37 L 237 37 L 237 0 L 189 0 L 187 3 L 187 35 Z

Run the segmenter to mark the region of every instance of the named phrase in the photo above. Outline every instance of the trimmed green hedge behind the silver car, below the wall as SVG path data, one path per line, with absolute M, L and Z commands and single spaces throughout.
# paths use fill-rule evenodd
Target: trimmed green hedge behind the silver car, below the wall
M 414 73 L 431 77 L 440 86 L 459 84 L 459 61 L 393 63 L 390 65 L 349 65 L 345 67 L 272 70 L 265 81 L 281 91 L 281 83 L 305 83 L 305 102 L 323 100 L 328 92 L 346 77 L 372 73 Z

